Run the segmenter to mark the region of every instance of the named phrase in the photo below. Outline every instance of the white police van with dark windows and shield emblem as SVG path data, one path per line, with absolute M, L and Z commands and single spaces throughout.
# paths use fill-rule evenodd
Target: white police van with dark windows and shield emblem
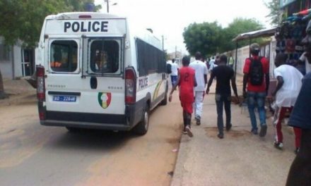
M 36 49 L 40 123 L 68 130 L 148 130 L 149 113 L 167 104 L 161 42 L 106 13 L 47 16 Z

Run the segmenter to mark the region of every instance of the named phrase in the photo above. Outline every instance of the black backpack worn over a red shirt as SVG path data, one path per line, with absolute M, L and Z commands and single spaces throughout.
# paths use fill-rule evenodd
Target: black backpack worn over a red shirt
M 255 86 L 262 85 L 264 82 L 264 68 L 262 67 L 262 57 L 257 59 L 250 58 L 250 83 Z

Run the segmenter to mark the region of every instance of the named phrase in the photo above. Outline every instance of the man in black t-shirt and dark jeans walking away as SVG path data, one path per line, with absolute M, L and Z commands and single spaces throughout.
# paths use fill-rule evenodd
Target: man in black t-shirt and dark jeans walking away
M 217 127 L 218 137 L 223 138 L 223 105 L 225 105 L 225 129 L 228 131 L 232 127 L 231 124 L 231 86 L 235 97 L 237 97 L 237 85 L 235 84 L 235 75 L 233 69 L 227 66 L 227 56 L 222 55 L 220 58 L 219 65 L 213 68 L 211 71 L 211 77 L 209 78 L 209 84 L 207 85 L 206 94 L 209 94 L 209 87 L 216 77 L 216 108 L 217 108 Z M 238 100 L 238 97 L 237 97 Z

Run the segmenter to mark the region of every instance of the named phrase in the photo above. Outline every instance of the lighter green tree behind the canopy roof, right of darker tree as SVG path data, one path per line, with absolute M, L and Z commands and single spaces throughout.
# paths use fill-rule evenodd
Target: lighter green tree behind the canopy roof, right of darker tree
M 223 29 L 223 38 L 221 42 L 220 50 L 230 51 L 235 49 L 235 42 L 232 40 L 237 36 L 245 32 L 252 32 L 255 30 L 261 30 L 263 25 L 258 20 L 250 18 L 235 18 L 232 23 Z M 258 40 L 257 40 L 258 41 Z M 249 41 L 239 42 L 240 46 L 245 46 Z

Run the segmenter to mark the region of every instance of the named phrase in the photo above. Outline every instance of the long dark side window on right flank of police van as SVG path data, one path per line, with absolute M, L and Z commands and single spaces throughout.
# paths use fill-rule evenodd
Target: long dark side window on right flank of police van
M 136 39 L 139 76 L 165 72 L 164 53 L 160 49 Z

